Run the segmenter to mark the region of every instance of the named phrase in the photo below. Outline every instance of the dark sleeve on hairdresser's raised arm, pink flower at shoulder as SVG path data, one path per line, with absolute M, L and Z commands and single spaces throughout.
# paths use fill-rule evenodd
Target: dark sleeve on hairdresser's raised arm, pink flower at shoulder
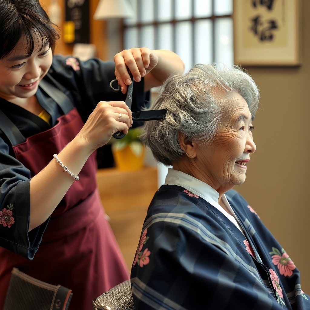
M 110 82 L 115 79 L 115 64 L 111 61 L 89 59 L 81 61 L 72 56 L 55 55 L 50 73 L 66 87 L 75 106 L 86 121 L 99 101 L 125 101 L 126 94 L 115 93 Z M 144 93 L 144 79 L 134 82 L 132 111 L 139 111 L 148 103 L 149 92 Z

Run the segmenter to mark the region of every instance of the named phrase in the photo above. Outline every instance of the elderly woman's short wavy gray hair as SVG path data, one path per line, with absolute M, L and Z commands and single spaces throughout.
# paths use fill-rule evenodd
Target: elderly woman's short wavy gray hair
M 246 100 L 254 118 L 259 90 L 240 67 L 197 64 L 188 73 L 170 76 L 149 108 L 166 109 L 166 118 L 145 122 L 141 139 L 151 148 L 157 161 L 172 165 L 185 155 L 179 146 L 179 131 L 196 144 L 215 139 L 219 120 L 225 116 L 221 103 L 227 101 L 232 92 Z

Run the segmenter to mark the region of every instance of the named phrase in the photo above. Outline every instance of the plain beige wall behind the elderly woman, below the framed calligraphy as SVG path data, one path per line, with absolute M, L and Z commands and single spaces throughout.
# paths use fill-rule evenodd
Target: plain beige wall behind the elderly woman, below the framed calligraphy
M 310 294 L 310 1 L 302 1 L 302 65 L 247 67 L 260 89 L 246 182 L 236 189 L 301 272 Z M 242 64 L 241 64 L 242 66 Z

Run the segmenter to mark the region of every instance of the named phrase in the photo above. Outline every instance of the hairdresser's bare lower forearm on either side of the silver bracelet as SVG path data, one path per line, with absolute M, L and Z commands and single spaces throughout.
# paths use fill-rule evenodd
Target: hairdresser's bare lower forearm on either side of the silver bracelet
M 58 154 L 58 158 L 74 175 L 78 175 L 90 154 L 90 148 L 85 147 L 77 136 Z M 54 158 L 30 180 L 29 231 L 49 218 L 73 181 Z

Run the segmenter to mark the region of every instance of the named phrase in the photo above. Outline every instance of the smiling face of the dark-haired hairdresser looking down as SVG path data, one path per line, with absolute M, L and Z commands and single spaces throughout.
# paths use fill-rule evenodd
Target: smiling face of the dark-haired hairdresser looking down
M 36 42 L 33 53 L 27 57 L 22 37 L 14 50 L 0 60 L 0 97 L 6 100 L 29 98 L 37 92 L 53 58 L 48 43 L 41 50 L 39 46 Z

